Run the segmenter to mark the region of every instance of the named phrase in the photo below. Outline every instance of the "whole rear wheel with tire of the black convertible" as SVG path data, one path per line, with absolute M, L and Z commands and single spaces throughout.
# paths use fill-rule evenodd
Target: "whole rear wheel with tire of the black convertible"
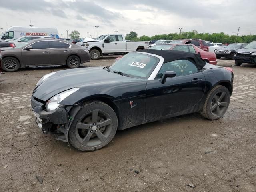
M 219 119 L 228 110 L 229 103 L 230 93 L 228 89 L 222 85 L 217 85 L 212 88 L 206 97 L 200 114 L 209 120 Z

